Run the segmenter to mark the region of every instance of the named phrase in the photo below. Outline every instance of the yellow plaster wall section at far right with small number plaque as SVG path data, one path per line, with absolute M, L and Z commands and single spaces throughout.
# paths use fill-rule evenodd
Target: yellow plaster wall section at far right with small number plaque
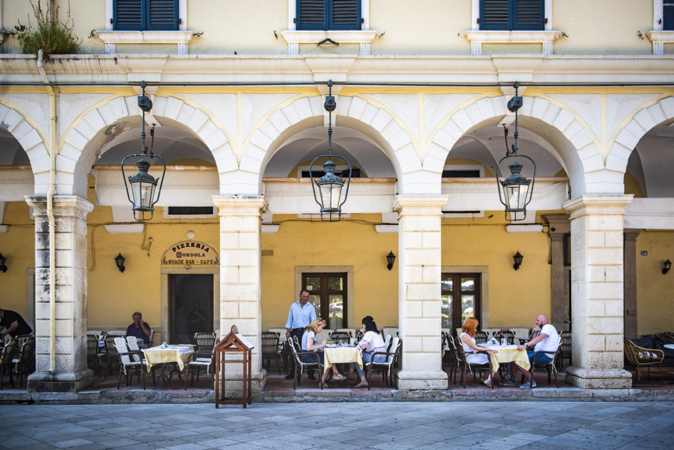
M 663 275 L 667 259 L 674 259 L 674 231 L 642 230 L 636 239 L 638 335 L 674 331 L 674 270 Z

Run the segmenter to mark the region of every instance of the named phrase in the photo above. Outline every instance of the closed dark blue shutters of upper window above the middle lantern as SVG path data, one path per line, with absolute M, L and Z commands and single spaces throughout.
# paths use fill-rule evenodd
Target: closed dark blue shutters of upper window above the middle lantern
M 360 30 L 361 0 L 297 0 L 297 30 Z

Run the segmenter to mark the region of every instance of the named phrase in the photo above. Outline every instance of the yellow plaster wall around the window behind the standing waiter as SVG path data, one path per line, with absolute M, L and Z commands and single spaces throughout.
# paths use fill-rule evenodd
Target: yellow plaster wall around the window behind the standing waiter
M 398 234 L 379 234 L 379 214 L 354 214 L 351 220 L 298 220 L 297 215 L 274 215 L 280 227 L 262 235 L 262 326 L 284 327 L 288 308 L 297 300 L 295 266 L 353 265 L 353 317 L 366 315 L 377 325 L 398 324 L 398 262 L 389 271 L 386 255 L 398 253 Z M 350 323 L 349 327 L 355 327 Z

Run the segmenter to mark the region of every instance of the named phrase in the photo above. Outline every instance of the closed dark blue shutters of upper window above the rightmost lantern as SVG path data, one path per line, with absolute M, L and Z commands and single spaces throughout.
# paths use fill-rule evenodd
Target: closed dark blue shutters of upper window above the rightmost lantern
M 481 0 L 480 30 L 543 30 L 545 0 Z

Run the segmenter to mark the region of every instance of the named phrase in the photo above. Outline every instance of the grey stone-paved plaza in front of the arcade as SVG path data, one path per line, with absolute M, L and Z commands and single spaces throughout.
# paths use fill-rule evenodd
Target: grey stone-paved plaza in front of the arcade
M 12 450 L 674 449 L 669 402 L 2 406 Z

